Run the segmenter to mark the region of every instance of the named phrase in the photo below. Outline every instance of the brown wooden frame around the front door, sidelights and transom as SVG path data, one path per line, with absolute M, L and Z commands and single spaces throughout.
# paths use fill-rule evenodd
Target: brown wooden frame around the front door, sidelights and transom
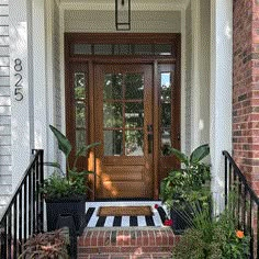
M 109 55 L 78 55 L 74 54 L 75 44 L 170 44 L 173 48 L 173 56 L 148 56 L 148 55 L 124 55 L 124 56 L 109 56 Z M 72 68 L 75 66 L 82 66 L 88 74 L 88 123 L 90 124 L 89 131 L 94 132 L 94 103 L 93 103 L 93 88 L 94 88 L 94 64 L 150 64 L 153 65 L 153 86 L 159 85 L 159 65 L 160 64 L 176 64 L 176 77 L 174 85 L 178 88 L 178 106 L 180 109 L 180 95 L 181 95 L 181 34 L 171 33 L 65 33 L 65 87 L 66 87 L 66 104 L 70 104 L 69 99 L 69 88 L 71 86 Z M 154 91 L 154 105 L 158 105 L 158 91 Z M 66 109 L 66 134 L 72 136 L 75 127 L 71 126 L 71 116 Z M 154 132 L 158 131 L 159 125 L 159 114 L 158 111 L 154 111 Z M 180 123 L 180 112 L 179 112 L 179 126 Z M 155 131 L 156 130 L 156 131 Z M 90 134 L 88 134 L 90 135 Z M 70 139 L 75 146 L 75 138 Z M 94 136 L 90 135 L 87 139 L 88 143 L 93 143 Z M 154 139 L 155 140 L 155 139 Z M 180 147 L 179 147 L 180 148 Z M 165 177 L 158 176 L 158 155 L 159 143 L 158 138 L 154 142 L 154 200 L 159 199 L 159 180 Z M 95 169 L 94 154 L 91 153 L 88 157 L 88 169 Z M 94 177 L 90 177 L 90 185 L 93 190 L 91 194 L 91 200 L 95 199 L 95 184 Z

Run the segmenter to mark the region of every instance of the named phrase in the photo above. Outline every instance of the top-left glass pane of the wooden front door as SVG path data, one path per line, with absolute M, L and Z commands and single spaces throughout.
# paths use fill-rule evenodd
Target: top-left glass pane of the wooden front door
M 106 74 L 104 77 L 103 98 L 117 100 L 123 98 L 122 75 Z

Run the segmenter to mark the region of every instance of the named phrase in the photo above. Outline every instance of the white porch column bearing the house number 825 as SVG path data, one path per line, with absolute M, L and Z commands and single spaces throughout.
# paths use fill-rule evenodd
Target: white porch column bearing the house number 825
M 10 86 L 12 133 L 12 189 L 15 190 L 30 162 L 33 148 L 33 88 L 29 55 L 31 1 L 11 0 L 10 7 Z

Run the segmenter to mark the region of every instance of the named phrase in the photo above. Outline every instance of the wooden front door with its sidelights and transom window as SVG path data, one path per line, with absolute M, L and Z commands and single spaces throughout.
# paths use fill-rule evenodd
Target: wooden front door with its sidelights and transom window
M 89 177 L 91 199 L 158 199 L 161 180 L 180 166 L 169 150 L 180 149 L 180 35 L 67 33 L 65 41 L 72 154 L 102 143 L 78 159 L 98 174 Z

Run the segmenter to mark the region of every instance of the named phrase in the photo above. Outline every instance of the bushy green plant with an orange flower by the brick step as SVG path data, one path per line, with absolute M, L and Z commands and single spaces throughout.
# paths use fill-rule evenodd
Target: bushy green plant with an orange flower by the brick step
M 238 229 L 230 210 L 212 217 L 207 207 L 193 206 L 193 224 L 173 247 L 173 259 L 245 259 L 250 237 Z

